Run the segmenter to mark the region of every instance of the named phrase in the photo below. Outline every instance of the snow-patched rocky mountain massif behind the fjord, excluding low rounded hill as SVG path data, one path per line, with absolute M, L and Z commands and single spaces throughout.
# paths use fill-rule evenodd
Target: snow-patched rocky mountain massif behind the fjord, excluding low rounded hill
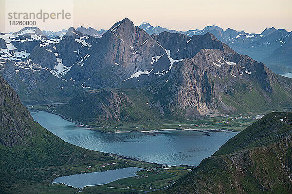
M 100 38 L 69 28 L 64 36 L 49 39 L 31 27 L 1 33 L 0 43 L 0 75 L 23 100 L 69 101 L 92 89 L 139 89 L 151 113 L 163 117 L 292 104 L 290 78 L 238 54 L 209 32 L 149 35 L 125 18 Z M 131 94 L 122 99 L 134 100 Z M 78 105 L 82 98 L 73 99 Z

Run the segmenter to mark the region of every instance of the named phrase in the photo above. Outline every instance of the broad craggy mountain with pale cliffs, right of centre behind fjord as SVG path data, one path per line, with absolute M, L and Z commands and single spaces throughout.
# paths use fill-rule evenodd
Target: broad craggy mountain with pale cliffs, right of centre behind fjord
M 254 91 L 261 99 L 272 102 L 279 94 L 276 86 L 281 83 L 277 80 L 281 79 L 264 64 L 246 55 L 201 49 L 193 58 L 176 63 L 170 73 L 156 83 L 159 89 L 153 91 L 153 103 L 159 101 L 170 113 L 181 112 L 185 116 L 188 109 L 194 108 L 200 114 L 236 112 L 241 107 L 234 103 L 242 102 L 239 106 L 246 107 L 249 104 L 242 99 L 226 100 L 226 96 L 239 93 L 243 97 L 244 93 Z

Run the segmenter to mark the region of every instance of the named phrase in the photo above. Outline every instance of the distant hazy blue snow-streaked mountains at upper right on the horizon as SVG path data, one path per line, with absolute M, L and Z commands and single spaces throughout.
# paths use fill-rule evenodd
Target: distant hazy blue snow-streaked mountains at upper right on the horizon
M 168 30 L 160 26 L 151 26 L 144 22 L 139 26 L 149 34 L 159 34 L 161 32 L 179 32 L 187 36 L 202 35 L 206 32 L 213 33 L 215 37 L 227 44 L 230 48 L 237 51 L 239 54 L 245 54 L 251 58 L 263 62 L 268 65 L 276 73 L 291 72 L 292 56 L 288 48 L 291 49 L 292 32 L 287 32 L 285 29 L 266 28 L 260 34 L 246 33 L 244 31 L 238 32 L 233 29 L 226 29 L 224 31 L 218 26 L 207 26 L 203 30 L 188 30 L 175 31 Z M 285 50 L 284 53 L 280 53 Z M 284 55 L 281 55 L 284 54 Z M 288 69 L 286 69 L 288 68 Z

